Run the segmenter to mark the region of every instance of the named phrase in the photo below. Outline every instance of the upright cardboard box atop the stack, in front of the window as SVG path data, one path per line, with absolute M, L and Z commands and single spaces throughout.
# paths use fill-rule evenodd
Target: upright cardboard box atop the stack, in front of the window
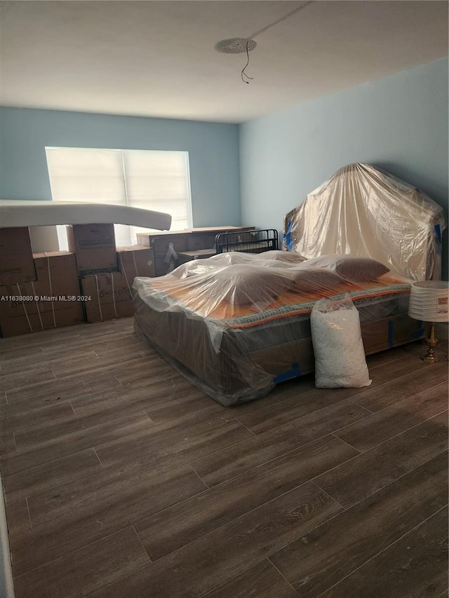
M 118 271 L 114 224 L 67 226 L 67 239 L 79 276 Z

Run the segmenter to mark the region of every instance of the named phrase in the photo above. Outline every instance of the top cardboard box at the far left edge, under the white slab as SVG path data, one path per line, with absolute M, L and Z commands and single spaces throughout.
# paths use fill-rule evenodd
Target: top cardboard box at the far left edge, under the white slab
M 29 280 L 36 280 L 36 271 L 28 229 L 0 229 L 0 285 Z

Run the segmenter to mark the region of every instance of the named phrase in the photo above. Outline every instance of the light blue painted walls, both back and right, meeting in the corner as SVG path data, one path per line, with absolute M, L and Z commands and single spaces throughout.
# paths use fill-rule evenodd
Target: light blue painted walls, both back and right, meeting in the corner
M 392 172 L 428 193 L 447 214 L 448 60 L 240 127 L 4 108 L 1 198 L 51 197 L 46 145 L 189 151 L 194 226 L 255 224 L 281 229 L 286 212 L 351 162 L 368 162 Z M 447 238 L 446 230 L 446 276 Z

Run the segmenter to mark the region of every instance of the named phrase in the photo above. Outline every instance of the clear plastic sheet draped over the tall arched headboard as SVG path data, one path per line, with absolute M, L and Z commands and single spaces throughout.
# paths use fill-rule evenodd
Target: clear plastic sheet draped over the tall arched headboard
M 443 208 L 369 164 L 349 164 L 286 215 L 283 247 L 377 259 L 410 280 L 441 278 Z

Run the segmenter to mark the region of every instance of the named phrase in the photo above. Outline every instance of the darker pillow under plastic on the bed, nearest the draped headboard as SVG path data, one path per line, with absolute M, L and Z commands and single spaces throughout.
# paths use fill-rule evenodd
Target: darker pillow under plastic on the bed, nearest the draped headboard
M 389 272 L 389 268 L 370 257 L 349 254 L 329 254 L 312 257 L 304 261 L 308 266 L 325 266 L 353 283 L 376 280 Z

